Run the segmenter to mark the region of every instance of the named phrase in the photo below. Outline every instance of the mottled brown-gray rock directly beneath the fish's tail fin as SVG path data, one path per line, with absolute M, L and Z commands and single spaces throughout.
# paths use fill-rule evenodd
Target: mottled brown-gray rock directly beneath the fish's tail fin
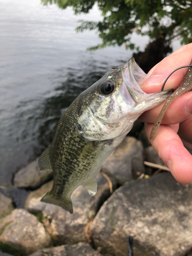
M 116 182 L 111 179 L 113 189 L 116 188 Z M 50 236 L 56 244 L 75 244 L 84 241 L 84 228 L 91 221 L 102 203 L 111 195 L 109 183 L 99 174 L 97 176 L 98 191 L 95 196 L 90 196 L 84 187 L 79 186 L 72 194 L 73 211 L 71 215 L 68 211 L 53 204 L 40 202 L 40 198 L 27 199 L 25 208 L 33 214 L 40 215 L 44 226 L 50 233 Z M 50 190 L 51 183 L 47 185 L 47 191 Z M 40 189 L 36 195 L 43 196 L 47 191 L 43 187 L 43 193 Z M 34 192 L 33 192 L 34 194 Z M 86 233 L 87 236 L 87 233 Z M 89 238 L 87 238 L 89 240 Z

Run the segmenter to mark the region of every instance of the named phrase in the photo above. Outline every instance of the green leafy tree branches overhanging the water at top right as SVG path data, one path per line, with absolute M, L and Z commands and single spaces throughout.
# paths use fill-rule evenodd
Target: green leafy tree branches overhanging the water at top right
M 173 39 L 182 44 L 192 42 L 192 0 L 41 0 L 44 5 L 56 4 L 65 9 L 71 6 L 77 13 L 88 13 L 94 4 L 101 10 L 101 22 L 83 22 L 77 31 L 96 30 L 102 44 L 90 48 L 121 46 L 133 49 L 131 35 L 148 35 L 151 40 L 164 39 L 169 45 Z

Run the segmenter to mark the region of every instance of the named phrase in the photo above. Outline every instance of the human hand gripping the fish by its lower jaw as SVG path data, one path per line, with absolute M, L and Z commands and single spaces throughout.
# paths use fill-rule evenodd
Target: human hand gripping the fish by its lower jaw
M 148 73 L 150 76 L 141 84 L 146 93 L 161 91 L 166 77 L 174 69 L 189 65 L 192 59 L 192 44 L 186 45 L 164 58 Z M 164 90 L 180 86 L 187 68 L 173 73 L 167 80 Z M 144 112 L 140 120 L 145 122 L 146 135 L 149 138 L 153 124 L 163 104 Z M 184 145 L 192 150 L 192 92 L 184 93 L 170 104 L 156 137 L 151 141 L 155 151 L 170 169 L 175 179 L 183 184 L 192 182 L 192 156 Z

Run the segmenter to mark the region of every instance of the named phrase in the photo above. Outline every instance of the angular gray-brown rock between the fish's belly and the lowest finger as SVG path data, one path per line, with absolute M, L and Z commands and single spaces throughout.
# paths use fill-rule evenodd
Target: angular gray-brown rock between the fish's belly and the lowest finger
M 119 184 L 137 178 L 145 172 L 143 146 L 134 137 L 125 137 L 102 167 L 103 172 L 113 175 Z

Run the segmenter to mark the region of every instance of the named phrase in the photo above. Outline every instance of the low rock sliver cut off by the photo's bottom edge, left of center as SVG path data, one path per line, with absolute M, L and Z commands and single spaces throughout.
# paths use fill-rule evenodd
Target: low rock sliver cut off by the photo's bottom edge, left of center
M 30 256 L 101 256 L 90 244 L 61 245 L 48 249 L 41 249 Z M 110 255 L 109 255 L 110 256 Z

